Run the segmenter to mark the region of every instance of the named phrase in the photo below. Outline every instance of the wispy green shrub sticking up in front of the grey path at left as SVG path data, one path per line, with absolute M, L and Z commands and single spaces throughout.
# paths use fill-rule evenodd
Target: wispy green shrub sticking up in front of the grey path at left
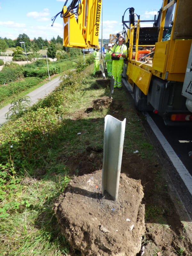
M 8 120 L 15 120 L 16 118 L 23 115 L 23 113 L 29 107 L 29 103 L 31 102 L 30 97 L 24 96 L 18 98 L 17 96 L 12 100 L 11 107 L 9 111 L 6 113 L 5 117 Z

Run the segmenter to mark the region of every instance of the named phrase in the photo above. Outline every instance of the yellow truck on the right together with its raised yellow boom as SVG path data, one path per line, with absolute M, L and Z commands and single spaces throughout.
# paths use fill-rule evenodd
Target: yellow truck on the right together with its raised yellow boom
M 74 0 L 63 6 L 64 46 L 99 48 L 101 7 L 102 0 Z M 144 21 L 133 7 L 122 17 L 120 34 L 128 48 L 123 83 L 134 94 L 138 110 L 153 111 L 166 125 L 192 124 L 191 10 L 191 0 L 163 0 L 151 28 L 140 26 Z

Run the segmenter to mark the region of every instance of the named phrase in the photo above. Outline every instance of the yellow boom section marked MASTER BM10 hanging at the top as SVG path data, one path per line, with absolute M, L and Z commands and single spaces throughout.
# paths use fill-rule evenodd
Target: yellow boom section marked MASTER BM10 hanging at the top
M 60 12 L 64 21 L 63 46 L 99 48 L 102 0 L 72 0 L 68 7 L 67 2 Z

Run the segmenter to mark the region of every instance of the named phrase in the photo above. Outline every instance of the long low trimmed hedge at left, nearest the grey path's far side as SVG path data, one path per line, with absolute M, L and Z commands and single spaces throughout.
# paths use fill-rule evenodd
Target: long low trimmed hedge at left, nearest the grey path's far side
M 27 77 L 19 82 L 12 82 L 8 85 L 0 86 L 0 101 L 10 97 L 14 93 L 20 93 L 27 90 L 28 88 L 39 84 L 42 81 L 41 78 Z

